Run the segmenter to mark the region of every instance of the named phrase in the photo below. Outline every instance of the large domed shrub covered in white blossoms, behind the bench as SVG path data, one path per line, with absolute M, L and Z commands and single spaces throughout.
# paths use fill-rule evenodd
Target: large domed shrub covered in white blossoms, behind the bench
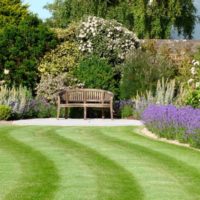
M 137 36 L 122 24 L 92 16 L 80 23 L 77 40 L 82 52 L 105 57 L 114 64 L 139 46 Z

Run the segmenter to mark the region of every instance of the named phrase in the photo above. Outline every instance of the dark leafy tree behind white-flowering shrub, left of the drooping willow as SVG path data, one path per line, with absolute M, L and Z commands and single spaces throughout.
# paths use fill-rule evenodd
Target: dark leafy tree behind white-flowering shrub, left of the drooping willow
M 47 20 L 51 26 L 65 28 L 73 21 L 79 21 L 83 16 L 93 15 L 103 18 L 117 19 L 127 24 L 129 28 L 133 25 L 133 15 L 128 0 L 55 0 L 47 4 L 46 9 L 52 13 Z

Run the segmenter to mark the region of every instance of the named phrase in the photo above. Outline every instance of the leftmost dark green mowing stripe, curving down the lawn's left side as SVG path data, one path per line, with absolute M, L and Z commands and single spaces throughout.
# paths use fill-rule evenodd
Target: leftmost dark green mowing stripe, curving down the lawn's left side
M 16 129 L 16 130 L 15 130 Z M 11 135 L 26 129 L 2 128 L 0 146 L 12 154 L 20 164 L 21 177 L 5 200 L 50 200 L 57 189 L 59 177 L 56 168 L 43 154 L 17 141 Z

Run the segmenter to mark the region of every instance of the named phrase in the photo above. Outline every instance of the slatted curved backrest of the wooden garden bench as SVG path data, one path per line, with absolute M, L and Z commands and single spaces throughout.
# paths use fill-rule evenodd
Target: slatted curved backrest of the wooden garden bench
M 67 89 L 62 93 L 66 103 L 106 103 L 113 99 L 113 93 L 100 89 Z

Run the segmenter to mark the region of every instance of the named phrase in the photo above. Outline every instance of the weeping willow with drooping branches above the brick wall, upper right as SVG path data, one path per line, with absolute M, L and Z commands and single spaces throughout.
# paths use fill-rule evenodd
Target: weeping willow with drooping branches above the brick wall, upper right
M 133 4 L 134 28 L 140 38 L 169 38 L 172 26 L 185 38 L 192 37 L 196 22 L 193 0 L 151 0 Z

